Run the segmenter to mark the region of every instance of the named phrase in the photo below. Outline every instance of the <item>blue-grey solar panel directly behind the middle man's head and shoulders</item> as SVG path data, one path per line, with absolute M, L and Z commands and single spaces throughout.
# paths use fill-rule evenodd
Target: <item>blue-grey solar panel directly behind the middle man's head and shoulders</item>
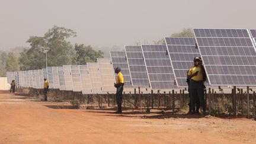
M 124 88 L 130 88 L 132 87 L 132 82 L 130 79 L 130 70 L 126 59 L 126 53 L 123 51 L 120 52 L 110 52 L 111 57 L 111 63 L 113 66 L 113 73 L 114 68 L 121 68 L 121 73 L 124 76 Z M 116 81 L 116 74 L 114 76 L 114 79 Z

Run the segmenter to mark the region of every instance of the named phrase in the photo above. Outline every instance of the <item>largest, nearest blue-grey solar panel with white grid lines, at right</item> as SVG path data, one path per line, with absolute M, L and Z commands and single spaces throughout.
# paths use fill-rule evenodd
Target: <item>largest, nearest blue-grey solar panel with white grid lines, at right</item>
M 255 46 L 247 29 L 193 29 L 210 85 L 256 85 Z

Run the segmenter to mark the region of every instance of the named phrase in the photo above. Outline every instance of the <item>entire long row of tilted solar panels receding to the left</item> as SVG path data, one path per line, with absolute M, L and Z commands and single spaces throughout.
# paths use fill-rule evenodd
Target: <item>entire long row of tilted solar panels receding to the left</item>
M 256 30 L 194 28 L 194 37 L 165 37 L 165 44 L 124 46 L 87 65 L 48 66 L 46 69 L 7 72 L 18 86 L 77 91 L 82 94 L 116 92 L 114 68 L 121 68 L 124 91 L 187 87 L 187 70 L 201 56 L 208 86 L 256 86 Z M 198 47 L 196 47 L 196 44 Z

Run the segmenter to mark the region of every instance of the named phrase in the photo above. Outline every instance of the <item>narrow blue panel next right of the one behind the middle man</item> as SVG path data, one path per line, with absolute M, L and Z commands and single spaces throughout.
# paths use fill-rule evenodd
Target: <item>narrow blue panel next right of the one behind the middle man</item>
M 135 87 L 149 87 L 148 73 L 146 72 L 141 46 L 124 46 L 124 48 L 132 85 Z

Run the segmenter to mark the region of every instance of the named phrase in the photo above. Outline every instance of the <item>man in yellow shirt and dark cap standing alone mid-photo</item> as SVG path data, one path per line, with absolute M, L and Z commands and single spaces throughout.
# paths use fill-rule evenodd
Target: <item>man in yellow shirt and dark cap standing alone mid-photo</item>
M 117 78 L 116 78 L 116 83 L 114 84 L 114 87 L 117 88 L 116 100 L 117 100 L 117 107 L 118 107 L 118 110 L 116 111 L 116 113 L 121 113 L 124 79 L 123 79 L 123 74 L 121 73 L 121 69 L 119 67 L 115 69 L 115 73 L 117 73 Z

